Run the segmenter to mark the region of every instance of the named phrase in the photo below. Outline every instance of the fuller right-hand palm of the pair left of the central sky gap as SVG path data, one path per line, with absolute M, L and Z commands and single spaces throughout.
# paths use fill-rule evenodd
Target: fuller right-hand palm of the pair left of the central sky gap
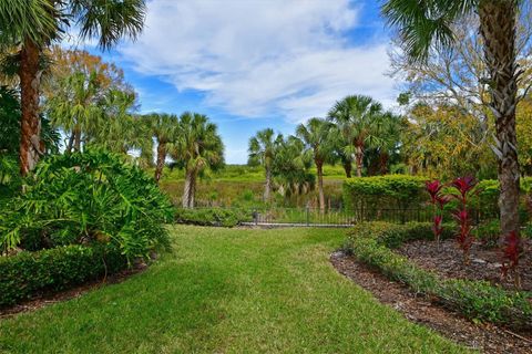
M 203 114 L 183 113 L 172 143 L 171 157 L 185 169 L 183 208 L 194 208 L 198 175 L 224 164 L 224 144 L 216 125 Z

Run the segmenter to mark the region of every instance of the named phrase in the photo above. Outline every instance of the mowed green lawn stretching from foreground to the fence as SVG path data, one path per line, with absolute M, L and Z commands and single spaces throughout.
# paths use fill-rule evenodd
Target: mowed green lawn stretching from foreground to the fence
M 338 274 L 345 230 L 172 227 L 141 274 L 0 320 L 1 353 L 459 353 Z

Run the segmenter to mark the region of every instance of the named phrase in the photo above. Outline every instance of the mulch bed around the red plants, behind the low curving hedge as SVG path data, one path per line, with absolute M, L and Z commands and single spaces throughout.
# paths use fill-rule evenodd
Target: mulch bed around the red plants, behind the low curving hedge
M 520 260 L 521 287 L 532 291 L 532 242 L 523 240 L 524 254 Z M 454 240 L 446 240 L 437 248 L 434 241 L 412 241 L 402 244 L 397 252 L 407 256 L 418 266 L 437 271 L 446 278 L 487 280 L 514 289 L 513 280 L 508 277 L 501 281 L 502 251 L 499 248 L 487 249 L 481 243 L 471 247 L 471 262 L 463 264 L 462 251 Z

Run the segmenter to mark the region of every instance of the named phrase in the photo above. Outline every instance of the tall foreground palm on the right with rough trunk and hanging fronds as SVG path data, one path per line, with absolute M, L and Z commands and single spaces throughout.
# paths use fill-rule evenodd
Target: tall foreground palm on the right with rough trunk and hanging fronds
M 424 61 L 433 45 L 453 42 L 453 23 L 477 13 L 487 65 L 483 84 L 491 95 L 489 106 L 495 117 L 495 146 L 499 160 L 501 229 L 519 232 L 519 162 L 515 135 L 518 82 L 522 71 L 516 63 L 515 27 L 520 0 L 388 0 L 382 13 L 399 29 L 406 52 Z

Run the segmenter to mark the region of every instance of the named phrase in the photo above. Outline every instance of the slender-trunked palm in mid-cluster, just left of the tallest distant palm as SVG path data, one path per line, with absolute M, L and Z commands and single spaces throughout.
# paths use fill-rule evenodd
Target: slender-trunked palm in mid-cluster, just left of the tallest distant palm
M 330 123 L 320 118 L 310 118 L 307 124 L 297 126 L 296 135 L 313 154 L 318 175 L 319 209 L 325 212 L 324 164 L 334 162 L 335 148 Z

